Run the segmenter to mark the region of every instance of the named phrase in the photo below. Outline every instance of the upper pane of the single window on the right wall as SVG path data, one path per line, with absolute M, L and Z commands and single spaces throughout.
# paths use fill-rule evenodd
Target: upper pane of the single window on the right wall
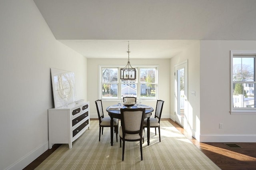
M 254 57 L 233 58 L 233 81 L 254 81 Z

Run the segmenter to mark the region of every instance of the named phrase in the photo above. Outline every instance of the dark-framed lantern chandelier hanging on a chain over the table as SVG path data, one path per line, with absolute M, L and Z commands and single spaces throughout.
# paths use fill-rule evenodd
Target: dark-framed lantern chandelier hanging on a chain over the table
M 128 62 L 124 68 L 121 69 L 121 79 L 122 80 L 135 80 L 136 79 L 136 69 L 132 68 L 130 64 L 130 49 L 129 49 L 129 42 L 128 42 Z

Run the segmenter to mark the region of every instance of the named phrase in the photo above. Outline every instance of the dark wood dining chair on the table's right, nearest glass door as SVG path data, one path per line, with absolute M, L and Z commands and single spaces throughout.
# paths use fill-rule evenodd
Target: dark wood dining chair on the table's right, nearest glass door
M 160 119 L 162 115 L 162 109 L 163 109 L 164 101 L 157 100 L 156 102 L 156 112 L 155 117 L 150 117 L 150 127 L 155 128 L 155 134 L 156 134 L 156 128 L 158 127 L 158 133 L 159 133 L 159 142 L 161 142 L 160 137 Z M 147 119 L 144 120 L 143 128 L 147 127 Z

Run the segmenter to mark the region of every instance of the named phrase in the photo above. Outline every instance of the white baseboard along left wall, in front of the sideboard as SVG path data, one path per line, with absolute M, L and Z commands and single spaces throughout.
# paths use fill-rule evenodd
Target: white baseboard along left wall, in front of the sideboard
M 10 165 L 8 168 L 6 168 L 6 170 L 22 170 L 48 149 L 49 149 L 49 141 L 46 141 L 41 146 L 38 146 L 37 148 L 35 148 L 34 150 L 29 152 L 22 158 L 14 162 L 14 164 Z

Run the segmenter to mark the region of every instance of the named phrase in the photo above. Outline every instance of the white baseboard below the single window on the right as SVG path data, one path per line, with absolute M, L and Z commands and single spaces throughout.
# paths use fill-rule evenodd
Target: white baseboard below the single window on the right
M 200 142 L 256 142 L 256 134 L 200 134 Z

